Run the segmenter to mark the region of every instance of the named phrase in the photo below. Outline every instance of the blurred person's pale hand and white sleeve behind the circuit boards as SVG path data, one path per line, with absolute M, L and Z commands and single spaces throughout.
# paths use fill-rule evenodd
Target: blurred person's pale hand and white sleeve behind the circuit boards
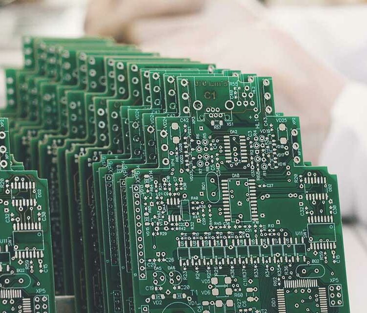
M 92 0 L 85 28 L 165 56 L 272 76 L 276 111 L 300 117 L 304 160 L 338 175 L 342 214 L 367 224 L 367 86 L 308 53 L 259 2 Z

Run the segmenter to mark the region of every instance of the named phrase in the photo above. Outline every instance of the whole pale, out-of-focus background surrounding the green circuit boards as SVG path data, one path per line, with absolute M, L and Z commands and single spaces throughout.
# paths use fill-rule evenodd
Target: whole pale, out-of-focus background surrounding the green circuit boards
M 23 35 L 90 34 L 273 76 L 277 111 L 301 118 L 304 158 L 338 175 L 351 312 L 366 312 L 367 209 L 355 201 L 366 179 L 351 185 L 343 164 L 353 153 L 336 150 L 328 136 L 345 86 L 367 90 L 367 0 L 0 0 L 0 28 L 0 69 L 22 66 Z M 365 107 L 367 91 L 360 94 L 350 101 Z M 5 96 L 0 73 L 0 106 Z M 353 134 L 343 140 L 354 142 Z M 335 154 L 322 152 L 325 145 Z M 362 169 L 366 151 L 358 154 Z

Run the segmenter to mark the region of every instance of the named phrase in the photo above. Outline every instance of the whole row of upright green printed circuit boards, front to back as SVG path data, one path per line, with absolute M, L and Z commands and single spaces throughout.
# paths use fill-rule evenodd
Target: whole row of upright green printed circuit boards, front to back
M 23 49 L 0 112 L 0 312 L 65 294 L 76 313 L 349 312 L 337 179 L 303 161 L 272 78 L 110 39 Z

